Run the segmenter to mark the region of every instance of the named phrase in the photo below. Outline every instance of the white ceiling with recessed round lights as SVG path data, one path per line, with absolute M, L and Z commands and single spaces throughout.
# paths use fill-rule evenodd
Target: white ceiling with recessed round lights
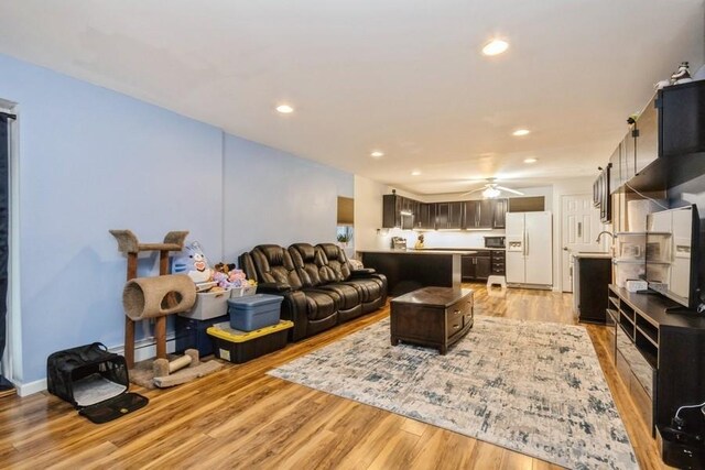
M 597 175 L 653 84 L 702 66 L 704 19 L 703 0 L 4 0 L 0 53 L 424 195 Z M 496 35 L 509 51 L 482 56 Z

